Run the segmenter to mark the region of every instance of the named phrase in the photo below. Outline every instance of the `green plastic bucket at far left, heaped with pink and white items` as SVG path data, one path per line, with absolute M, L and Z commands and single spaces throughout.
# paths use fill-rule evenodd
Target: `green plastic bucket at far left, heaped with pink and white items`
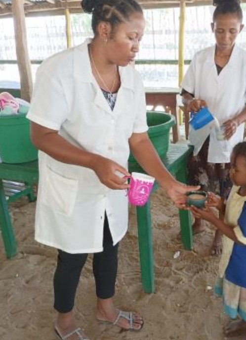
M 3 163 L 25 163 L 38 158 L 30 139 L 26 114 L 0 115 L 0 159 Z

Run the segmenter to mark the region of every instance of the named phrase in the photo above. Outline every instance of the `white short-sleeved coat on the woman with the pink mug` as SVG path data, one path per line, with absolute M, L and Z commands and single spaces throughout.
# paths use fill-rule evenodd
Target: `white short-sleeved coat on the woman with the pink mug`
M 143 84 L 130 65 L 120 67 L 121 87 L 112 111 L 92 75 L 90 41 L 42 63 L 28 118 L 127 168 L 128 139 L 148 130 Z M 113 243 L 123 238 L 128 219 L 125 191 L 110 190 L 91 169 L 59 162 L 41 151 L 39 167 L 38 242 L 69 253 L 102 251 L 105 211 Z

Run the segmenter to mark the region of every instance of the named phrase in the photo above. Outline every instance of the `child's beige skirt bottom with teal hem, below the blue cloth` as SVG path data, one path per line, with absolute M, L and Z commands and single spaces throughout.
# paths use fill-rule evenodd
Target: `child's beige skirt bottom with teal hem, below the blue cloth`
M 246 288 L 235 285 L 225 278 L 217 278 L 214 292 L 223 298 L 224 312 L 231 318 L 240 316 L 246 321 Z

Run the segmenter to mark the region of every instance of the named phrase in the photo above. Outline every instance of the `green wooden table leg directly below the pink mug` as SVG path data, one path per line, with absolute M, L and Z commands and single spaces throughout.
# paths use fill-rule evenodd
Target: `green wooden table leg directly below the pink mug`
M 137 226 L 143 289 L 146 293 L 153 293 L 155 291 L 155 274 L 150 199 L 144 206 L 137 207 Z

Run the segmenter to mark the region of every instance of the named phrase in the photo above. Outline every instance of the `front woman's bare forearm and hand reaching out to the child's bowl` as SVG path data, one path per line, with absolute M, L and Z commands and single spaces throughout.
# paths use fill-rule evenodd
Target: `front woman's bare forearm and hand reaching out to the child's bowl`
M 166 193 L 180 207 L 186 202 L 186 193 L 198 190 L 199 187 L 189 187 L 176 181 L 166 170 L 147 133 L 132 134 L 129 139 L 130 149 L 141 165 L 151 176 L 155 177 Z

